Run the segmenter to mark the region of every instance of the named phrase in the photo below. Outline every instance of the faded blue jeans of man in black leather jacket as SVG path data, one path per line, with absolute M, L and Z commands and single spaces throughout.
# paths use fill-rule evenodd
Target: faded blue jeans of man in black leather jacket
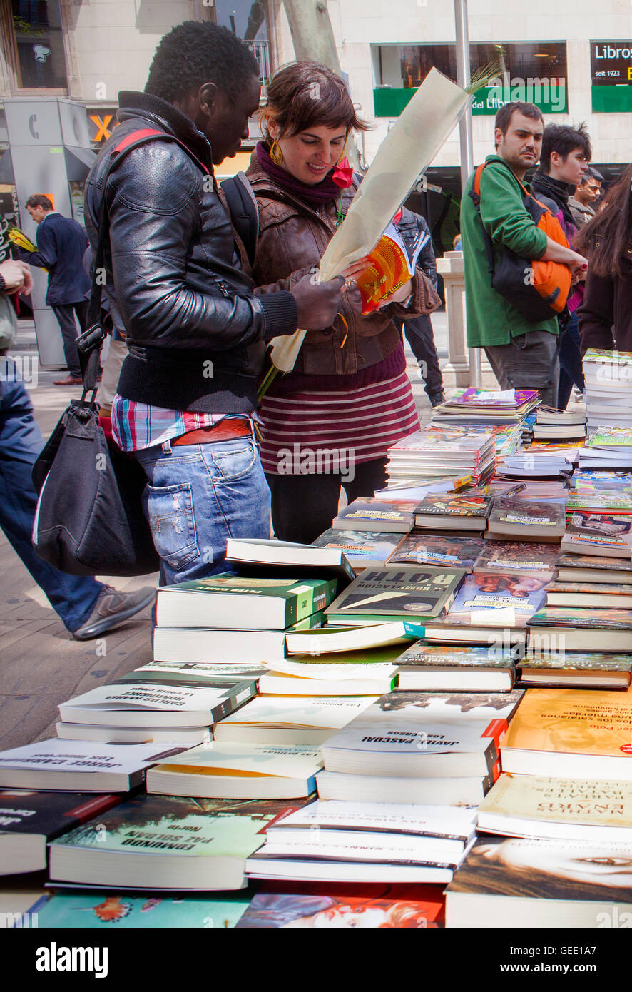
M 270 537 L 270 490 L 252 437 L 134 454 L 149 479 L 145 513 L 161 585 L 223 571 L 227 538 Z

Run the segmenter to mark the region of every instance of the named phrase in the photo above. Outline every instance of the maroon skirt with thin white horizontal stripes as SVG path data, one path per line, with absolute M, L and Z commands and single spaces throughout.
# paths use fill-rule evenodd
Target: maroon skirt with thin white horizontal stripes
M 419 430 L 406 372 L 340 391 L 264 396 L 261 462 L 272 475 L 347 472 Z

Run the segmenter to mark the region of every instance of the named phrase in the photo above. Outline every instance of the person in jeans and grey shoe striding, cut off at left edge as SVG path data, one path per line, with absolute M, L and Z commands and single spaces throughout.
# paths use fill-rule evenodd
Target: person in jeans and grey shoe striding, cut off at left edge
M 24 262 L 0 264 L 0 295 L 29 294 L 33 279 Z M 9 311 L 7 311 L 9 312 Z M 77 641 L 99 637 L 150 606 L 156 590 L 118 592 L 91 577 L 69 575 L 38 558 L 31 542 L 38 496 L 31 479 L 44 439 L 16 363 L 6 355 L 15 340 L 10 317 L 0 330 L 0 528 Z M 15 327 L 15 322 L 13 322 Z

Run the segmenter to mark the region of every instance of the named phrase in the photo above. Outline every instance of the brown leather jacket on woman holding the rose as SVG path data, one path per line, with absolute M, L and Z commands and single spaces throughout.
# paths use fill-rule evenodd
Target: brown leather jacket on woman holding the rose
M 261 168 L 253 152 L 246 172 L 259 205 L 259 243 L 253 269 L 257 293 L 289 289 L 312 270 L 335 231 L 335 204 L 317 210 L 278 186 Z M 355 187 L 342 190 L 346 213 Z M 440 299 L 432 283 L 418 269 L 412 282 L 413 299 L 405 309 L 391 304 L 363 316 L 342 296 L 342 313 L 331 327 L 310 331 L 303 342 L 295 371 L 304 375 L 348 375 L 387 358 L 402 343 L 392 317 L 418 316 L 435 310 Z M 346 334 L 346 340 L 345 340 Z M 344 343 L 343 343 L 344 342 Z

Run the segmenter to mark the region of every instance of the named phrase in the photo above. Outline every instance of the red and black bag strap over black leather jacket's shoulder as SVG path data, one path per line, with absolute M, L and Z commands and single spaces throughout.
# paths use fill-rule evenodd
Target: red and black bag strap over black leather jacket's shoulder
M 96 376 L 99 369 L 99 354 L 101 351 L 101 345 L 106 337 L 106 331 L 103 329 L 100 320 L 102 287 L 101 283 L 97 282 L 97 280 L 99 279 L 100 271 L 103 267 L 105 243 L 109 239 L 109 229 L 107 224 L 107 183 L 110 178 L 110 174 L 114 168 L 118 166 L 123 156 L 127 155 L 128 152 L 133 151 L 135 148 L 140 148 L 142 145 L 147 144 L 149 141 L 169 141 L 180 145 L 198 169 L 200 169 L 205 175 L 209 175 L 209 170 L 206 166 L 192 154 L 190 149 L 183 141 L 180 140 L 180 138 L 177 138 L 175 135 L 167 134 L 165 131 L 158 131 L 155 128 L 142 128 L 138 131 L 132 131 L 131 134 L 126 135 L 125 138 L 123 138 L 122 141 L 120 141 L 119 144 L 111 150 L 110 161 L 107 164 L 107 168 L 101 181 L 103 186 L 103 197 L 101 199 L 101 207 L 97 221 L 96 249 L 94 251 L 92 264 L 92 287 L 90 290 L 90 299 L 85 320 L 87 329 L 76 339 L 79 364 L 81 366 L 81 378 L 83 380 L 83 393 L 80 402 L 84 403 L 86 394 L 91 392 L 92 397 L 89 403 L 92 406 L 94 405 L 94 397 L 96 396 L 97 389 Z M 214 182 L 215 179 L 213 177 L 213 184 Z

